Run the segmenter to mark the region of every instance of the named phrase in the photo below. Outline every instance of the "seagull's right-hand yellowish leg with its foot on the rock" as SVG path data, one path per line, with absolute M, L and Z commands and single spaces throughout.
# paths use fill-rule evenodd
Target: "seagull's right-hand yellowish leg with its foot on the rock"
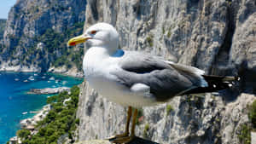
M 119 143 L 128 143 L 132 141 L 135 138 L 136 119 L 137 119 L 137 109 L 134 110 L 133 116 L 132 116 L 131 135 L 117 137 L 111 142 L 119 144 Z

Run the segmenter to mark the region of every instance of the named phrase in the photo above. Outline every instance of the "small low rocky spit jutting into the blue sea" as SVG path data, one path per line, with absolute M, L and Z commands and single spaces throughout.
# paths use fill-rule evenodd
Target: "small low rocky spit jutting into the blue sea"
M 59 87 L 59 88 L 45 88 L 45 89 L 30 89 L 27 94 L 36 94 L 36 95 L 54 95 L 59 94 L 63 91 L 70 92 L 70 88 Z

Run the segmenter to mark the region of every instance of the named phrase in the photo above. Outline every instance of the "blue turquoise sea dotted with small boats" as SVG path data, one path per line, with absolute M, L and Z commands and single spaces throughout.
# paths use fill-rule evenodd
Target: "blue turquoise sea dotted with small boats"
M 31 112 L 46 105 L 49 95 L 26 95 L 29 89 L 72 87 L 82 80 L 51 73 L 0 72 L 0 144 L 15 136 L 20 120 L 32 118 Z

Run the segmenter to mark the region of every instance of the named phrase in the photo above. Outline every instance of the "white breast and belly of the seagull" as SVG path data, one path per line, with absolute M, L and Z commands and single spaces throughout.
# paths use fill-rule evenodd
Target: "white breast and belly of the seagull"
M 97 58 L 96 55 L 88 52 L 84 56 L 83 62 L 85 79 L 89 82 L 90 87 L 96 89 L 100 95 L 122 106 L 143 107 L 156 104 L 154 99 L 148 98 L 148 93 L 136 93 L 119 84 L 115 76 L 111 74 L 113 70 L 119 69 L 116 61 L 108 57 Z

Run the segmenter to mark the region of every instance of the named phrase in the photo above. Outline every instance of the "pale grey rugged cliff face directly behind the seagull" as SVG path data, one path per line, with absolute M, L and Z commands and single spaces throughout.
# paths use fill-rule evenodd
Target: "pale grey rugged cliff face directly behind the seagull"
M 137 135 L 160 143 L 241 143 L 247 105 L 255 96 L 256 3 L 254 0 L 88 0 L 84 28 L 115 26 L 122 49 L 160 55 L 207 74 L 240 75 L 239 89 L 205 98 L 182 96 L 143 108 Z M 244 94 L 247 92 L 250 94 Z M 79 140 L 106 138 L 125 127 L 125 110 L 84 83 L 79 98 Z M 168 104 L 168 105 L 169 105 Z M 149 125 L 148 130 L 144 130 Z M 144 132 L 143 132 L 144 131 Z

